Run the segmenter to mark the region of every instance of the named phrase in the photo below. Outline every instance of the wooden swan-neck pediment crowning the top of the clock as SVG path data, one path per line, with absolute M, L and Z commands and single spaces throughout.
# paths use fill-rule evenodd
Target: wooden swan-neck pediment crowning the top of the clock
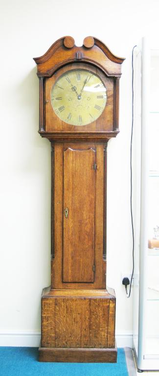
M 38 65 L 38 76 L 51 77 L 58 68 L 66 64 L 66 61 L 77 61 L 77 53 L 78 55 L 81 54 L 81 58 L 85 61 L 87 60 L 92 65 L 101 67 L 109 76 L 120 76 L 121 64 L 124 58 L 115 56 L 99 39 L 93 38 L 93 40 L 94 46 L 91 48 L 86 48 L 85 46 L 72 47 L 72 44 L 71 48 L 66 48 L 66 37 L 58 39 L 43 56 L 34 58 Z

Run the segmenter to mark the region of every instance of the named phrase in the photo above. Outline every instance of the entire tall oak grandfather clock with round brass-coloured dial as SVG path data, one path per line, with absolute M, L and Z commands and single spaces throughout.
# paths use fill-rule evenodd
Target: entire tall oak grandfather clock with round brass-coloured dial
M 51 142 L 51 286 L 42 293 L 43 362 L 116 362 L 106 287 L 107 143 L 118 134 L 123 58 L 100 40 L 57 40 L 34 58 L 40 128 Z

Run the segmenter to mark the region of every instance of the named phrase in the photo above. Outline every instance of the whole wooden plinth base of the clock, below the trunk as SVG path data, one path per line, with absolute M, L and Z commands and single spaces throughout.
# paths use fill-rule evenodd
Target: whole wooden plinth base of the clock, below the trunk
M 45 288 L 39 360 L 116 362 L 113 289 Z

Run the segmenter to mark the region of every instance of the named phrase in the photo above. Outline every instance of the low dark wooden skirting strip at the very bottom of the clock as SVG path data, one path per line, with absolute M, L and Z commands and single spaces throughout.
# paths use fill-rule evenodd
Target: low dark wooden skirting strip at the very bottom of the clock
M 116 363 L 117 349 L 39 348 L 40 362 Z

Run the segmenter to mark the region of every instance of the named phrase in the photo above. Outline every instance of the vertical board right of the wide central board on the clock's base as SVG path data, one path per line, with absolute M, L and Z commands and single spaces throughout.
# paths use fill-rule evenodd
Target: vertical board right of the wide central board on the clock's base
M 109 303 L 108 299 L 91 299 L 90 347 L 92 348 L 107 348 Z

